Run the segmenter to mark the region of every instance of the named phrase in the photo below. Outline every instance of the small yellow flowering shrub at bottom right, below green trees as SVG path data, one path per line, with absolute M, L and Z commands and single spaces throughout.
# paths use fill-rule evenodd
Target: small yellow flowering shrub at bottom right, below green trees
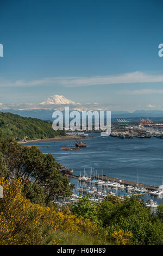
M 114 237 L 116 245 L 126 245 L 133 234 L 128 230 L 119 229 L 114 231 L 111 236 Z

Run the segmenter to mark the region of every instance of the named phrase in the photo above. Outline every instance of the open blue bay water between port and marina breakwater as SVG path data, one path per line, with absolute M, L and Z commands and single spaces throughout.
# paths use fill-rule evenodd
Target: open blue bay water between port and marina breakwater
M 157 138 L 133 138 L 118 139 L 114 137 L 101 138 L 100 133 L 90 133 L 88 139 L 84 139 L 87 147 L 80 151 L 64 151 L 62 147 L 40 147 L 42 153 L 54 153 L 57 162 L 73 168 L 74 175 L 83 174 L 85 168 L 90 175 L 91 167 L 103 174 L 147 185 L 160 186 L 163 179 L 163 139 Z M 69 145 L 74 147 L 76 141 L 28 143 L 28 145 Z M 57 154 L 56 154 L 57 153 Z M 72 181 L 72 179 L 71 179 Z M 78 180 L 73 179 L 77 184 Z M 151 197 L 154 198 L 155 197 Z M 157 199 L 162 203 L 162 199 Z

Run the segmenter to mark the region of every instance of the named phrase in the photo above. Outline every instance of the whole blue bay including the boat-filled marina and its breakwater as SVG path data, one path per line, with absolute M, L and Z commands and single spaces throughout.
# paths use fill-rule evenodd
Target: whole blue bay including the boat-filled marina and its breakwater
M 163 202 L 158 191 L 163 179 L 161 142 L 155 137 L 121 140 L 109 136 L 104 139 L 100 133 L 91 133 L 91 137 L 85 139 L 87 147 L 77 148 L 80 149 L 78 151 L 61 153 L 62 148 L 66 151 L 70 147 L 76 148 L 75 140 L 56 142 L 58 147 L 51 147 L 53 142 L 38 143 L 37 147 L 43 154 L 53 154 L 62 166 L 66 166 L 62 173 L 70 178 L 71 184 L 75 184 L 72 197 L 62 203 L 77 202 L 87 194 L 92 202 L 104 200 L 107 194 L 116 195 L 122 200 L 135 194 L 149 202 L 148 205 L 152 203 L 150 200 L 159 205 Z M 30 143 L 30 147 L 33 144 Z M 82 175 L 81 167 L 89 175 Z M 94 167 L 92 171 L 91 167 Z M 68 169 L 71 169 L 71 173 Z M 100 174 L 97 174 L 97 169 Z M 87 179 L 80 179 L 83 176 L 87 176 Z

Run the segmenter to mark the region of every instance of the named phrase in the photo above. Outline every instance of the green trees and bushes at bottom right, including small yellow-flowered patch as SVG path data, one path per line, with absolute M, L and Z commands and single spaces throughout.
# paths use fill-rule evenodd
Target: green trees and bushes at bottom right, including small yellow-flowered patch
M 97 223 L 100 233 L 105 233 L 110 242 L 112 239 L 118 245 L 163 244 L 162 205 L 158 215 L 153 215 L 136 196 L 124 200 L 108 196 L 97 204 L 82 198 L 72 206 L 72 212 Z

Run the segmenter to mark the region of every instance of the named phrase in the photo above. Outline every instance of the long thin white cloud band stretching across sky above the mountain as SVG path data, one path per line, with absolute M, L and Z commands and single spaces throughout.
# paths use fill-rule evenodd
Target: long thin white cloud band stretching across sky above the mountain
M 149 75 L 140 71 L 110 76 L 92 77 L 47 77 L 40 80 L 16 82 L 0 82 L 0 87 L 32 87 L 48 84 L 57 84 L 64 87 L 95 86 L 102 84 L 123 84 L 123 83 L 151 83 L 163 82 L 163 75 Z

